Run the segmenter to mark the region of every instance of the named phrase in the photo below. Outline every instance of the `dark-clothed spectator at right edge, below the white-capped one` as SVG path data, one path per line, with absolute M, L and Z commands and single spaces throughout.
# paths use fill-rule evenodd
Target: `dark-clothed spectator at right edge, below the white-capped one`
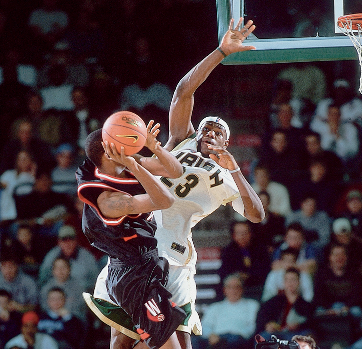
M 334 316 L 351 312 L 361 318 L 361 286 L 360 274 L 348 264 L 346 247 L 331 246 L 326 264 L 315 277 L 317 312 Z

